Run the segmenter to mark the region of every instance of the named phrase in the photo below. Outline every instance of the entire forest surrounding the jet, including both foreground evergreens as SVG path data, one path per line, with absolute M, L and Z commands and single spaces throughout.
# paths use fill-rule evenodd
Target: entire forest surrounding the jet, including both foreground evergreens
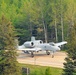
M 21 75 L 14 38 L 23 44 L 35 36 L 44 42 L 67 40 L 62 75 L 76 75 L 75 20 L 76 0 L 0 0 L 0 74 Z

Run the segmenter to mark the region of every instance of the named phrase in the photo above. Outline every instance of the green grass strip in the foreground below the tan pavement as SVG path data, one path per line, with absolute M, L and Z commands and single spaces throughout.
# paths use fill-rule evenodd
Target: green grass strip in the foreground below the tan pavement
M 20 65 L 21 67 L 30 68 L 30 75 L 45 75 L 45 70 L 48 68 L 48 66 L 27 65 L 27 64 L 20 64 Z M 62 75 L 62 72 L 63 70 L 61 68 L 50 67 L 51 75 Z

